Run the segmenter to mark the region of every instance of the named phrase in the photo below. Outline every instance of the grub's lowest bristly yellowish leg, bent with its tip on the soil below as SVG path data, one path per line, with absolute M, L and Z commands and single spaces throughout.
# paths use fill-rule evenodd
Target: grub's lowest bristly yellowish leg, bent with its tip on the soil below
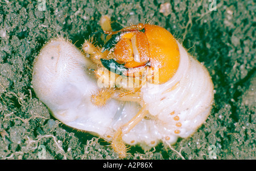
M 122 136 L 127 134 L 131 129 L 133 129 L 141 120 L 148 114 L 146 110 L 146 105 L 127 123 L 119 127 L 113 136 L 113 141 L 111 143 L 112 148 L 115 152 L 119 154 L 121 158 L 126 157 L 126 146 L 123 143 Z

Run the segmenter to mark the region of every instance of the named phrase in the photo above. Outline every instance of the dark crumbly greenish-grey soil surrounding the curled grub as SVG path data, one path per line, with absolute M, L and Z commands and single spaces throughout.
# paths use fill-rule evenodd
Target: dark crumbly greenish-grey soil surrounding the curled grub
M 256 159 L 256 69 L 254 1 L 39 1 L 0 2 L 0 159 L 117 159 L 104 140 L 63 126 L 36 98 L 32 62 L 52 37 L 80 47 L 100 30 L 101 15 L 122 26 L 146 22 L 170 31 L 209 70 L 216 94 L 207 122 L 172 149 L 144 153 L 131 147 L 127 159 Z

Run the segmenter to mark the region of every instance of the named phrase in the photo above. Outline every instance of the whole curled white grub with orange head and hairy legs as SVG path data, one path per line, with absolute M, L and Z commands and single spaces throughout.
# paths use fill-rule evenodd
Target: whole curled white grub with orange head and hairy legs
M 170 33 L 164 31 L 166 35 L 159 36 L 159 29 L 163 31 L 164 28 L 138 24 L 119 32 L 107 30 L 105 34 L 108 34 L 109 41 L 106 41 L 104 51 L 85 41 L 82 48 L 90 59 L 68 40 L 61 37 L 52 39 L 35 59 L 32 82 L 36 95 L 55 118 L 68 126 L 111 141 L 113 149 L 122 158 L 126 156 L 125 144 L 138 144 L 148 150 L 160 141 L 174 144 L 178 137 L 191 136 L 210 114 L 213 83 L 207 69 L 189 56 L 174 38 L 167 37 Z M 155 31 L 157 34 L 154 34 Z M 111 39 L 115 34 L 121 37 Z M 154 37 L 153 43 L 155 48 L 159 48 L 157 43 L 166 41 L 160 52 L 168 53 L 167 57 L 175 57 L 170 60 L 174 62 L 171 66 L 168 65 L 172 64 L 168 63 L 169 60 L 160 61 L 164 58 L 158 58 L 152 48 L 151 36 L 157 35 L 167 37 Z M 125 40 L 118 44 L 122 39 Z M 113 44 L 113 41 L 116 41 L 114 47 L 108 47 L 108 43 Z M 128 48 L 126 53 L 122 52 L 123 47 Z M 169 54 L 170 47 L 174 52 Z M 133 57 L 126 56 L 133 53 L 139 62 L 133 62 Z M 109 77 L 113 60 L 117 68 L 118 62 L 122 62 L 125 69 L 120 66 L 121 73 L 115 73 L 114 80 L 110 78 L 109 82 L 105 82 L 105 85 L 111 86 L 114 81 L 114 87 L 99 89 L 98 80 L 88 68 L 95 69 L 98 78 Z M 102 72 L 102 66 L 108 70 Z M 147 70 L 156 66 L 160 68 L 157 72 Z M 137 72 L 142 74 L 136 75 Z M 145 74 L 147 80 L 143 81 Z M 127 78 L 139 80 L 139 87 L 125 87 L 123 83 L 117 87 L 115 81 L 120 77 L 123 81 Z

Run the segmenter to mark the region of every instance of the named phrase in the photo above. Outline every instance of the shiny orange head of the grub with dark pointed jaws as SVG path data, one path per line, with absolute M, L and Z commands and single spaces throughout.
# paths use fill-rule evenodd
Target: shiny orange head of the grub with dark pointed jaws
M 152 83 L 163 84 L 177 71 L 180 61 L 179 47 L 170 32 L 152 24 L 133 25 L 119 31 L 105 31 L 112 35 L 103 51 L 113 51 L 115 62 L 101 59 L 123 76 L 134 77 L 141 68 L 152 69 Z M 113 67 L 112 67 L 113 68 Z

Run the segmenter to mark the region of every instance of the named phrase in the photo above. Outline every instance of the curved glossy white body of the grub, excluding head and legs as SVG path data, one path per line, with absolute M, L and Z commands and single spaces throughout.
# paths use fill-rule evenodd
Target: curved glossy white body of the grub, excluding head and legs
M 174 144 L 177 137 L 188 137 L 207 119 L 213 102 L 212 80 L 207 69 L 180 44 L 179 49 L 175 76 L 165 84 L 141 89 L 150 119 L 142 119 L 123 136 L 126 144 L 139 144 L 144 149 L 161 140 Z M 94 106 L 90 95 L 98 86 L 88 70 L 94 67 L 75 45 L 63 38 L 53 39 L 35 59 L 32 84 L 56 119 L 111 140 L 114 130 L 133 118 L 140 105 L 111 99 L 104 107 Z

